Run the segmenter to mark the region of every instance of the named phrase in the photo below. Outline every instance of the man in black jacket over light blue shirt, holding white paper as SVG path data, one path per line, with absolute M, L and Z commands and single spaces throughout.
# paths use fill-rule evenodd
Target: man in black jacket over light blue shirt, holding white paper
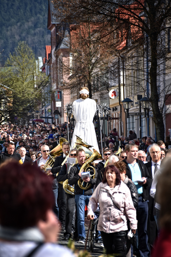
M 148 190 L 152 178 L 145 167 L 143 161 L 137 159 L 138 146 L 136 144 L 127 144 L 125 146 L 127 158 L 123 160 L 126 164 L 126 175 L 131 179 L 138 191 L 138 208 L 137 208 L 137 232 L 138 232 L 138 249 L 141 257 L 149 256 L 147 245 L 147 219 L 148 219 Z

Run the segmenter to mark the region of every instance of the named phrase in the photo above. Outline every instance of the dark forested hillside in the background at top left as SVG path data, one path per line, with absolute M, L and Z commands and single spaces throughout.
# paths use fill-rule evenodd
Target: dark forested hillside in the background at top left
M 47 30 L 48 1 L 0 1 L 0 52 L 3 57 L 14 52 L 19 41 L 26 41 L 38 56 L 44 57 L 45 45 L 50 44 Z

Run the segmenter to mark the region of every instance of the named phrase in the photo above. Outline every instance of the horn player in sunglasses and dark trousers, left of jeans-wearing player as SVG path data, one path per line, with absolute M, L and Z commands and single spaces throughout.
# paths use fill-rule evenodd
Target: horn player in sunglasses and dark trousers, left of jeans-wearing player
M 77 149 L 72 148 L 69 151 L 69 158 L 76 158 L 76 151 Z M 56 177 L 58 182 L 65 181 L 68 179 L 68 172 L 71 169 L 72 164 L 69 163 L 64 164 L 59 172 L 58 176 Z M 65 198 L 66 198 L 66 217 L 65 217 L 65 232 L 63 240 L 68 240 L 72 236 L 72 232 L 74 234 L 74 238 L 78 237 L 77 229 L 75 229 L 74 233 L 74 224 L 75 220 L 77 223 L 77 214 L 75 219 L 75 195 L 69 194 L 65 191 Z M 77 228 L 77 224 L 76 224 Z

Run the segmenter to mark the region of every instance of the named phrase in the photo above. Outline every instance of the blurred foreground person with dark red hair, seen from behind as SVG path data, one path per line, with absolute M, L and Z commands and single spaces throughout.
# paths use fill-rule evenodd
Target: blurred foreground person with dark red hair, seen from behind
M 0 256 L 62 257 L 73 254 L 56 243 L 58 222 L 51 180 L 37 166 L 0 166 Z

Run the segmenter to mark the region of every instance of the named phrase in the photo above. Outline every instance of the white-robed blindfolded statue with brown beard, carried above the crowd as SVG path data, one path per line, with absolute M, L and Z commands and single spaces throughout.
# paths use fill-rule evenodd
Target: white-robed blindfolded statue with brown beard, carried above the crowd
M 99 152 L 95 128 L 93 124 L 93 118 L 96 112 L 96 102 L 93 99 L 89 99 L 89 90 L 87 87 L 81 87 L 80 98 L 75 100 L 74 106 L 74 118 L 76 125 L 71 142 L 71 148 L 76 142 L 76 135 L 81 137 L 89 145 L 92 145 L 95 150 Z

